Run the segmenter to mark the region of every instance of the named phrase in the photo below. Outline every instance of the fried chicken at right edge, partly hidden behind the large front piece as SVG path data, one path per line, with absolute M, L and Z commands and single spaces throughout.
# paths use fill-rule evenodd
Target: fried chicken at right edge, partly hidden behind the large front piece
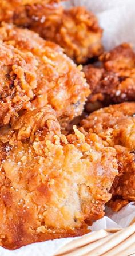
M 105 146 L 117 151 L 118 171 L 110 190 L 110 206 L 119 210 L 123 203 L 135 200 L 135 103 L 121 103 L 102 108 L 82 120 L 83 129 L 101 137 Z M 82 128 L 81 128 L 82 131 Z M 120 200 L 124 199 L 124 202 Z

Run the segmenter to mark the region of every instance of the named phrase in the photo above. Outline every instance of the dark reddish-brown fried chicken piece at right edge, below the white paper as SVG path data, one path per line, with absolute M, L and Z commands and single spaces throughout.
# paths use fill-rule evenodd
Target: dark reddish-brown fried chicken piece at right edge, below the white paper
M 86 104 L 100 108 L 113 103 L 135 100 L 135 53 L 129 44 L 122 44 L 100 57 L 101 68 L 84 67 L 86 80 L 92 90 Z

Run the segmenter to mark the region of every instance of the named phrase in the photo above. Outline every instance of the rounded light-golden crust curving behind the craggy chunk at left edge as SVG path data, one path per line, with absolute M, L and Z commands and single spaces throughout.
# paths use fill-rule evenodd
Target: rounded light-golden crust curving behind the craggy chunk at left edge
M 81 115 L 90 93 L 81 66 L 77 67 L 58 45 L 43 40 L 33 31 L 4 24 L 0 38 L 22 53 L 32 53 L 37 61 L 37 88 L 31 100 L 32 109 L 51 104 L 63 126 Z

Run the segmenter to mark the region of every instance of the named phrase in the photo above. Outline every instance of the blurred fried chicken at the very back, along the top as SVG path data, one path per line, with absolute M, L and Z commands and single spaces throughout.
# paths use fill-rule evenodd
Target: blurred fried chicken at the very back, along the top
M 2 10 L 1 3 L 0 7 Z M 12 12 L 6 7 L 0 21 L 29 27 L 46 40 L 61 45 L 77 64 L 102 53 L 102 29 L 94 14 L 85 7 L 64 10 L 61 5 L 46 5 L 45 2 L 18 9 L 15 6 Z

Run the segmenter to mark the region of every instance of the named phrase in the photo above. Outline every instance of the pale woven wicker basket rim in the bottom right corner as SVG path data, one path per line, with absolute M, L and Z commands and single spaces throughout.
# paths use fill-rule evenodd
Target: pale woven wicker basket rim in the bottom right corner
M 135 220 L 125 229 L 99 230 L 69 242 L 55 256 L 135 255 Z

